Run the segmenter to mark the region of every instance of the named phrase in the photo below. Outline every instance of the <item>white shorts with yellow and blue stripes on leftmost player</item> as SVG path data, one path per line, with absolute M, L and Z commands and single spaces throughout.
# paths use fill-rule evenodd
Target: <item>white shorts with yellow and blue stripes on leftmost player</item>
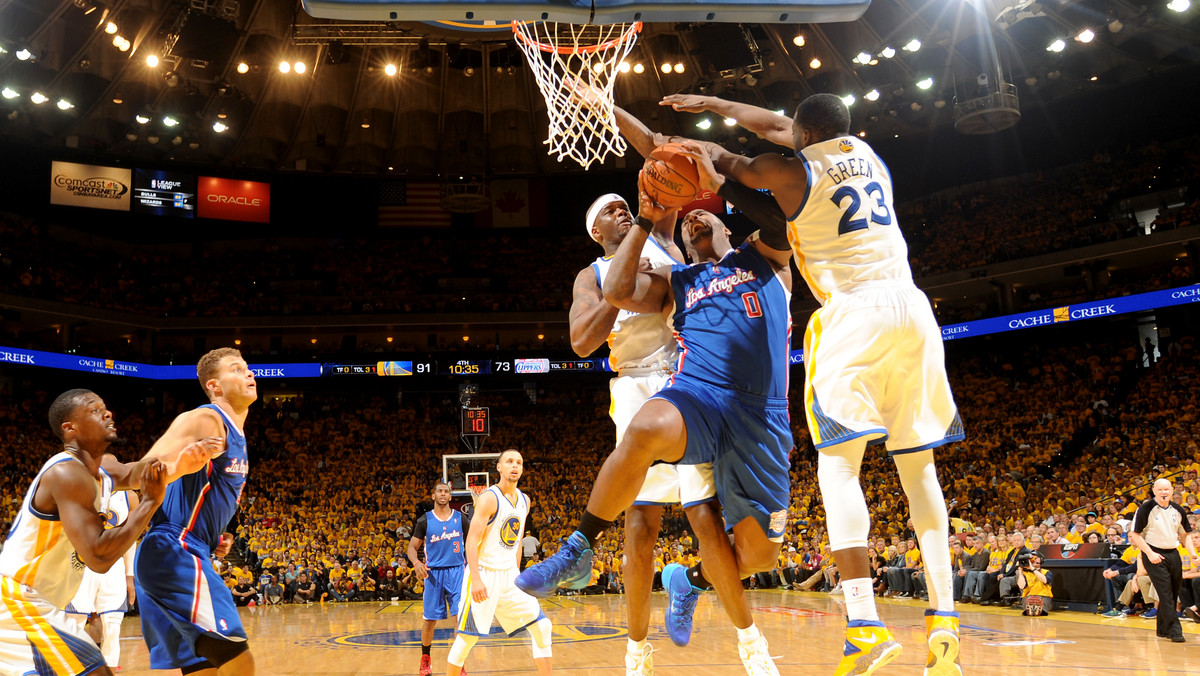
M 103 664 L 100 646 L 65 612 L 0 575 L 0 676 L 77 676 Z

